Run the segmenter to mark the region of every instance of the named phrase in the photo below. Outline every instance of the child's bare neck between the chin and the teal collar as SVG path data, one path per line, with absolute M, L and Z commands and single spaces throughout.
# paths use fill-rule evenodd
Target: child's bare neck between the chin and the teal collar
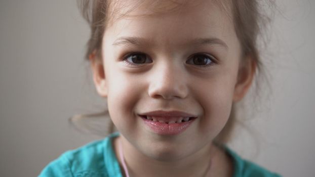
M 208 176 L 212 170 L 214 155 L 217 149 L 209 144 L 200 151 L 174 161 L 155 160 L 139 152 L 124 137 L 115 140 L 114 146 L 119 162 L 119 143 L 122 145 L 124 159 L 127 164 L 129 176 Z M 127 176 L 125 174 L 125 176 Z M 212 175 L 211 175 L 212 176 Z

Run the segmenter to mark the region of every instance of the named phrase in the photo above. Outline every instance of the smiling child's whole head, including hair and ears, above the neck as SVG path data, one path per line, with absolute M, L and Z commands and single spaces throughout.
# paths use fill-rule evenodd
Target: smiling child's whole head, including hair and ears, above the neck
M 232 105 L 260 65 L 256 1 L 84 2 L 85 14 L 93 6 L 87 58 L 94 82 L 131 145 L 165 159 L 225 140 Z M 187 114 L 154 118 L 152 111 Z M 179 117 L 189 123 L 176 123 Z

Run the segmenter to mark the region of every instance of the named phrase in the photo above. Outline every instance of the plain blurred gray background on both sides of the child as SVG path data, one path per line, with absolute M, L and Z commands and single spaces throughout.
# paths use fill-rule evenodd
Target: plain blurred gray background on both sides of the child
M 315 176 L 315 2 L 278 4 L 263 55 L 272 94 L 229 145 L 284 176 Z M 0 176 L 36 176 L 102 138 L 67 121 L 105 106 L 83 59 L 88 36 L 75 1 L 0 1 Z

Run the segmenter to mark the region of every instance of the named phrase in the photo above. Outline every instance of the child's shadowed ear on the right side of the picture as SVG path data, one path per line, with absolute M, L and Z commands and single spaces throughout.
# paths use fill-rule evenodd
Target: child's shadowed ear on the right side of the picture
M 237 83 L 234 88 L 233 101 L 237 102 L 243 99 L 248 92 L 256 71 L 256 62 L 251 56 L 247 56 L 240 62 Z

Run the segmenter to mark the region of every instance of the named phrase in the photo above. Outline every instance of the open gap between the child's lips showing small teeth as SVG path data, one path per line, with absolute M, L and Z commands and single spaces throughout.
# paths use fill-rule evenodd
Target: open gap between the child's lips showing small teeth
M 160 122 L 160 123 L 165 123 L 165 124 L 190 122 L 197 118 L 197 117 L 161 117 L 161 116 L 146 116 L 146 115 L 141 115 L 141 117 L 149 121 Z

